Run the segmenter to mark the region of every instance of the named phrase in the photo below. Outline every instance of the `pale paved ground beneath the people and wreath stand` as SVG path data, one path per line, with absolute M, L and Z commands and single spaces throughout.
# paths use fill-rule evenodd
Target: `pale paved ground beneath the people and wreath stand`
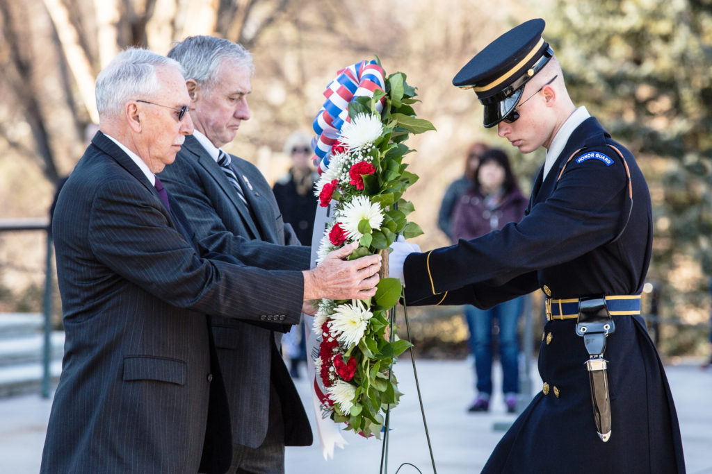
M 417 370 L 438 472 L 478 472 L 503 434 L 493 427 L 506 426 L 514 416 L 505 413 L 501 397 L 493 399 L 488 414 L 466 413 L 472 397 L 472 375 L 464 360 L 418 361 Z M 402 360 L 396 371 L 405 396 L 392 412 L 384 472 L 394 474 L 402 463 L 412 463 L 422 473 L 432 473 L 410 361 Z M 667 375 L 680 418 L 688 473 L 712 474 L 712 370 L 702 371 L 696 361 L 688 361 L 668 366 Z M 539 383 L 535 378 L 536 387 Z M 298 380 L 298 389 L 308 397 L 304 378 Z M 33 395 L 0 399 L 0 473 L 38 472 L 50 407 L 50 400 Z M 349 445 L 343 450 L 337 448 L 335 459 L 329 461 L 321 456 L 318 443 L 288 448 L 287 473 L 379 473 L 382 443 L 351 433 L 345 433 L 345 437 Z M 409 465 L 399 470 L 400 474 L 417 472 Z

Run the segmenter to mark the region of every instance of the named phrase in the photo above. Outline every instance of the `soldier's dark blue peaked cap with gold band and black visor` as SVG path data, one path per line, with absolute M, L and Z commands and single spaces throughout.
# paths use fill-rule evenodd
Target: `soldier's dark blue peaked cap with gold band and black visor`
M 526 21 L 504 33 L 475 55 L 452 83 L 473 89 L 485 106 L 484 126 L 495 126 L 510 114 L 522 97 L 524 85 L 553 57 L 541 37 L 545 22 Z

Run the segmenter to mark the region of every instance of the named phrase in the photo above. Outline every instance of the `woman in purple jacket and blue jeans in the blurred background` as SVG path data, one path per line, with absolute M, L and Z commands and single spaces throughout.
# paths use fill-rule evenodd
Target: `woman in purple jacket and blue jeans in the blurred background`
M 451 239 L 474 239 L 509 222 L 524 217 L 526 199 L 517 185 L 509 159 L 501 149 L 482 153 L 474 173 L 475 181 L 457 201 L 451 221 Z M 508 413 L 514 413 L 519 393 L 519 345 L 517 323 L 523 296 L 486 310 L 465 306 L 470 330 L 470 350 L 475 358 L 477 396 L 468 411 L 488 411 L 492 396 L 492 343 L 494 320 L 498 321 L 499 360 L 502 365 L 502 392 Z

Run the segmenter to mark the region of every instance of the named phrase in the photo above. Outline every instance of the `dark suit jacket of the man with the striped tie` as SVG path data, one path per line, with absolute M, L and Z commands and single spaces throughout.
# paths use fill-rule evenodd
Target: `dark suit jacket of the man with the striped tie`
M 284 224 L 262 173 L 241 158 L 231 160 L 250 209 L 193 136 L 186 137 L 175 163 L 160 178 L 181 203 L 201 244 L 211 251 L 263 268 L 308 269 L 309 247 L 285 247 L 298 241 L 290 225 Z M 293 298 L 279 286 L 267 290 L 271 300 L 286 304 Z M 212 328 L 230 404 L 233 443 L 256 448 L 263 442 L 272 383 L 281 399 L 285 444 L 310 445 L 308 418 L 281 359 L 279 339 L 271 330 L 226 318 L 213 318 Z

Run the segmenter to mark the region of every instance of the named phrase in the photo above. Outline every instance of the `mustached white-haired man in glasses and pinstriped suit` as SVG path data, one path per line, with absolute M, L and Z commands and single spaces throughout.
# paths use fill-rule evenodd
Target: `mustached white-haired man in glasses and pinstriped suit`
M 66 344 L 41 472 L 224 472 L 227 406 L 206 313 L 297 323 L 302 300 L 375 293 L 379 264 L 342 262 L 346 252 L 313 271 L 201 258 L 154 174 L 193 130 L 182 68 L 126 50 L 96 95 L 100 132 L 53 221 Z

